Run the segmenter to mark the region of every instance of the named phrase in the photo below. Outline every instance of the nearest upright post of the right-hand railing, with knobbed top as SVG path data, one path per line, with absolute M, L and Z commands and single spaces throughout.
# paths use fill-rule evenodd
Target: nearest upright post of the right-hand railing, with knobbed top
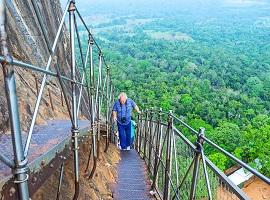
M 196 186 L 198 181 L 198 175 L 200 170 L 200 159 L 201 159 L 201 144 L 202 139 L 200 136 L 204 134 L 204 128 L 199 129 L 199 134 L 197 135 L 197 141 L 196 141 L 196 152 L 195 152 L 195 162 L 194 162 L 194 169 L 193 169 L 193 175 L 192 175 L 192 182 L 191 182 L 191 190 L 190 190 L 190 200 L 195 200 L 196 198 Z

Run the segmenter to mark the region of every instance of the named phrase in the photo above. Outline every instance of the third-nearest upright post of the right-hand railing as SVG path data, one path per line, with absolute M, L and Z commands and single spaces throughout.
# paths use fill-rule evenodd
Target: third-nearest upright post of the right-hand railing
M 153 183 L 151 185 L 151 191 L 154 192 L 157 179 L 158 179 L 158 161 L 159 161 L 159 147 L 160 147 L 160 139 L 161 139 L 161 112 L 162 109 L 160 108 L 158 112 L 158 119 L 157 119 L 157 139 L 156 139 L 156 147 L 155 147 L 155 161 L 154 161 L 154 174 L 153 174 Z

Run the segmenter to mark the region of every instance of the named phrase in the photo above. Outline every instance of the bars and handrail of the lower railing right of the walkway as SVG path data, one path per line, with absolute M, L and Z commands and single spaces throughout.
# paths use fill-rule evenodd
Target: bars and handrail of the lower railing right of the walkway
M 149 113 L 151 114 L 150 116 L 158 114 L 159 117 L 157 119 L 153 120 L 152 117 L 149 117 Z M 138 118 L 139 119 L 138 120 L 138 132 L 136 135 L 136 137 L 137 137 L 136 142 L 138 144 L 142 143 L 144 146 L 144 148 L 141 148 L 140 145 L 135 145 L 136 149 L 138 150 L 139 154 L 142 155 L 142 158 L 145 159 L 145 162 L 148 163 L 148 165 L 153 166 L 151 168 L 148 168 L 148 170 L 150 170 L 150 173 L 153 174 L 153 184 L 151 186 L 152 193 L 154 193 L 154 191 L 155 191 L 155 192 L 157 192 L 157 195 L 160 197 L 161 194 L 159 191 L 161 188 L 163 188 L 164 191 L 163 191 L 162 199 L 164 199 L 164 200 L 170 199 L 171 195 L 173 196 L 173 199 L 182 199 L 183 195 L 185 193 L 186 193 L 186 195 L 189 193 L 187 191 L 187 188 L 186 189 L 182 188 L 183 182 L 186 181 L 188 174 L 192 173 L 192 175 L 191 175 L 192 181 L 190 182 L 191 185 L 189 186 L 189 189 L 188 189 L 188 190 L 190 190 L 190 193 L 188 195 L 189 195 L 189 199 L 193 199 L 197 195 L 202 195 L 202 194 L 199 194 L 197 192 L 196 187 L 198 187 L 198 182 L 201 179 L 199 176 L 199 173 L 203 173 L 203 175 L 205 177 L 206 185 L 205 186 L 200 185 L 200 187 L 205 187 L 205 193 L 203 195 L 207 195 L 208 199 L 215 199 L 215 197 L 213 195 L 216 195 L 216 193 L 220 193 L 220 191 L 218 191 L 217 189 L 215 189 L 215 190 L 211 189 L 211 186 L 216 187 L 215 186 L 216 184 L 221 184 L 219 187 L 224 187 L 224 190 L 225 190 L 224 193 L 226 193 L 226 190 L 227 190 L 226 188 L 229 188 L 228 194 L 226 194 L 226 195 L 228 195 L 228 197 L 232 197 L 235 195 L 238 199 L 247 200 L 248 199 L 247 195 L 238 186 L 236 186 L 221 170 L 219 170 L 204 155 L 203 145 L 205 145 L 205 144 L 212 146 L 213 148 L 215 148 L 218 151 L 221 151 L 227 157 L 229 157 L 230 159 L 235 161 L 237 164 L 239 164 L 243 168 L 250 171 L 253 175 L 260 178 L 266 184 L 268 184 L 268 185 L 270 184 L 268 177 L 264 176 L 263 174 L 261 174 L 257 170 L 250 167 L 248 164 L 244 163 L 243 161 L 236 158 L 234 155 L 232 155 L 231 153 L 222 149 L 217 144 L 215 144 L 210 139 L 208 139 L 204 135 L 203 128 L 200 128 L 199 131 L 196 131 L 189 124 L 185 123 L 183 120 L 181 120 L 179 117 L 177 117 L 172 112 L 167 113 L 168 120 L 169 119 L 175 120 L 173 123 L 177 123 L 177 124 L 180 123 L 183 127 L 187 128 L 189 131 L 191 131 L 191 133 L 193 135 L 195 135 L 197 137 L 197 141 L 195 143 L 192 143 L 175 125 L 169 126 L 169 124 L 168 124 L 169 121 L 167 121 L 167 123 L 162 121 L 162 119 L 160 117 L 161 115 L 162 115 L 162 113 L 160 111 L 153 110 L 153 109 L 147 109 Z M 145 116 L 145 117 L 143 118 L 142 116 Z M 141 124 L 143 124 L 143 128 L 142 128 Z M 165 127 L 167 129 L 167 134 L 163 135 L 163 136 L 160 133 L 160 130 L 158 132 L 156 132 L 156 130 L 158 130 L 157 127 L 160 126 L 161 124 L 163 125 L 163 127 Z M 149 127 L 154 127 L 154 126 L 156 127 L 156 129 L 154 131 L 153 131 L 153 128 L 149 128 Z M 172 137 L 172 138 L 168 137 L 168 133 L 170 133 L 170 130 L 173 131 L 172 133 L 174 133 L 174 135 L 177 137 L 177 139 L 174 137 Z M 170 145 L 171 142 L 169 142 L 169 143 L 167 142 L 167 144 L 165 143 L 165 141 L 168 139 L 173 140 L 172 145 Z M 153 140 L 154 140 L 154 143 L 153 143 Z M 179 146 L 180 149 L 177 150 L 176 144 L 177 144 L 177 142 L 180 142 L 180 141 L 181 141 L 181 145 Z M 159 144 L 157 145 L 157 143 L 159 143 Z M 170 146 L 168 146 L 168 145 L 170 145 Z M 165 146 L 167 146 L 166 147 L 167 149 L 165 148 L 166 150 L 164 151 Z M 184 146 L 186 146 L 186 147 L 184 148 Z M 150 154 L 151 151 L 149 151 L 149 153 L 147 153 L 148 152 L 147 149 L 149 149 L 149 148 L 152 148 L 153 149 L 152 152 L 154 152 L 155 154 L 158 154 L 157 156 L 155 156 L 154 160 L 152 160 L 153 158 L 151 157 L 151 154 Z M 165 157 L 166 157 L 165 153 L 167 152 L 166 155 L 168 155 L 168 152 L 169 152 L 169 154 L 171 154 L 170 152 L 173 152 L 173 151 L 174 151 L 173 159 L 169 159 L 169 160 L 167 158 L 165 159 Z M 179 156 L 181 154 L 179 151 L 184 151 L 183 152 L 184 154 L 181 157 L 182 160 L 179 161 L 180 166 L 178 167 L 177 156 Z M 178 187 L 178 185 L 175 182 L 176 181 L 175 178 L 178 177 L 178 173 L 179 173 L 178 169 L 184 170 L 183 169 L 183 161 L 184 161 L 183 159 L 185 157 L 186 157 L 186 159 L 190 160 L 189 153 L 185 152 L 185 151 L 193 152 L 193 155 L 195 155 L 195 157 L 193 158 L 194 160 L 190 164 L 185 176 L 182 177 L 181 184 Z M 202 163 L 203 170 L 200 170 L 200 167 L 199 167 L 200 163 Z M 171 166 L 170 168 L 167 168 L 168 164 L 169 164 L 169 166 Z M 175 165 L 176 167 L 172 168 L 173 165 Z M 182 168 L 181 168 L 181 165 L 182 165 Z M 208 169 L 207 169 L 207 167 L 208 167 Z M 165 174 L 168 172 L 167 170 L 170 170 L 170 171 L 173 169 L 176 170 L 174 172 L 175 173 L 174 177 L 173 177 L 174 179 L 171 179 L 170 178 L 171 176 L 168 176 L 168 175 L 167 175 L 167 177 L 164 174 L 158 175 L 158 171 L 161 170 L 161 168 L 163 169 L 163 171 L 165 170 L 165 172 L 164 172 Z M 192 168 L 193 168 L 193 172 L 191 172 Z M 154 173 L 151 170 L 154 170 Z M 210 173 L 210 172 L 213 173 L 214 176 L 216 176 L 220 182 L 212 183 L 213 180 L 211 179 L 211 181 L 210 181 L 210 178 L 208 175 L 208 173 Z M 161 173 L 161 172 L 159 172 L 159 173 Z M 159 188 L 160 185 L 156 184 L 156 182 L 157 182 L 156 179 L 163 179 L 163 180 L 168 179 L 168 180 L 167 180 L 167 182 L 165 181 L 165 183 L 162 182 L 164 185 L 162 185 L 161 188 Z M 168 182 L 169 182 L 169 185 L 166 186 L 166 183 L 168 184 Z M 178 182 L 178 184 L 179 184 L 179 182 Z M 222 185 L 222 184 L 224 184 L 224 185 Z M 176 186 L 177 186 L 177 190 L 174 191 L 174 188 Z M 174 191 L 174 194 L 170 195 L 170 192 L 172 192 L 172 190 L 168 189 L 168 187 L 169 188 L 171 187 L 171 189 Z M 180 190 L 181 190 L 181 193 L 179 195 Z M 231 193 L 231 195 L 229 195 L 229 193 Z M 206 196 L 203 196 L 203 197 L 205 198 Z M 198 198 L 199 198 L 199 196 L 198 196 Z

